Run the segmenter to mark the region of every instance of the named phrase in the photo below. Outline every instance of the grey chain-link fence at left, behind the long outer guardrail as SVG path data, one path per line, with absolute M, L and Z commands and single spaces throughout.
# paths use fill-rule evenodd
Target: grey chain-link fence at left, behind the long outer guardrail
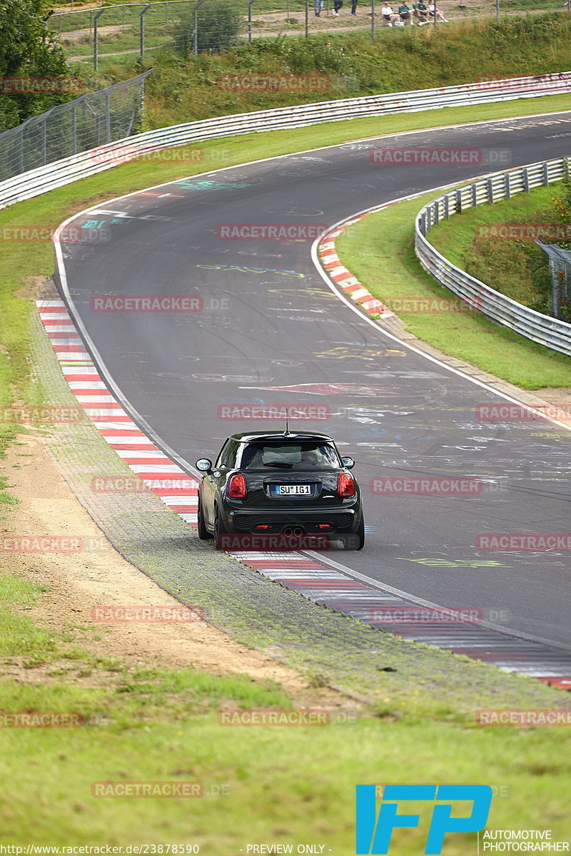
M 145 74 L 57 104 L 0 134 L 0 181 L 139 130 Z

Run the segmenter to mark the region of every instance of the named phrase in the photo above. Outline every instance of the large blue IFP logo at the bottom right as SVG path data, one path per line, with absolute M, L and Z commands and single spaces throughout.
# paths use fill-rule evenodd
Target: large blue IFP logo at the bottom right
M 436 803 L 432 805 L 425 847 L 425 854 L 435 856 L 442 852 L 447 832 L 479 832 L 484 829 L 491 797 L 490 785 L 385 785 L 377 814 L 376 785 L 357 785 L 355 853 L 358 856 L 389 853 L 393 829 L 419 825 L 419 814 L 397 812 L 401 802 L 414 800 Z M 458 802 L 472 803 L 467 817 L 452 817 Z

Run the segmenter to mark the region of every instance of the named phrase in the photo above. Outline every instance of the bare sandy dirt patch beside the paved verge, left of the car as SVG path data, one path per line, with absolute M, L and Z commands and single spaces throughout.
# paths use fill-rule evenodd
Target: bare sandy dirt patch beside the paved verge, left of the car
M 57 555 L 10 554 L 9 572 L 49 590 L 33 607 L 16 611 L 40 627 L 65 632 L 77 645 L 96 657 L 118 658 L 129 668 L 208 669 L 217 675 L 247 674 L 253 679 L 277 681 L 300 706 L 347 707 L 347 698 L 328 688 L 312 689 L 307 679 L 258 651 L 249 650 L 206 621 L 193 623 L 129 623 L 102 625 L 92 621 L 95 606 L 162 606 L 181 604 L 145 574 L 126 562 L 104 538 L 82 508 L 41 437 L 21 435 L 2 463 L 9 492 L 20 501 L 9 519 L 0 523 L 2 537 L 68 536 L 81 538 L 83 550 Z M 0 666 L 4 677 L 18 681 L 45 680 L 52 673 L 74 671 L 74 680 L 97 682 L 79 663 L 38 669 L 26 667 L 21 658 L 10 657 Z M 95 670 L 97 671 L 97 670 Z M 105 671 L 107 682 L 109 673 Z

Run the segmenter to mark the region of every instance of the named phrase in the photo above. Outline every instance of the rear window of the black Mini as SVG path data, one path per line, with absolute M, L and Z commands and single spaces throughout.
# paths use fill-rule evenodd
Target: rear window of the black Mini
M 241 469 L 247 470 L 324 470 L 342 464 L 334 446 L 314 440 L 296 443 L 247 443 L 242 449 Z

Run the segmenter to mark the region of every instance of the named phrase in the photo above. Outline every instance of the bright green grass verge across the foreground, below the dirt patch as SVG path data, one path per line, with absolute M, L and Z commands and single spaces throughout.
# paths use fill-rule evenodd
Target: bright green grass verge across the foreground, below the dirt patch
M 20 579 L 0 578 L 4 602 L 31 602 L 39 593 Z M 65 657 L 62 636 L 48 637 L 31 621 L 16 629 L 38 666 L 46 646 Z M 0 638 L 15 638 L 14 620 L 3 610 Z M 3 657 L 16 653 L 7 647 Z M 526 828 L 549 826 L 554 838 L 565 837 L 571 757 L 563 727 L 481 728 L 473 712 L 413 689 L 379 696 L 349 722 L 229 727 L 218 724 L 219 708 L 291 709 L 292 700 L 270 681 L 247 675 L 94 662 L 82 674 L 67 683 L 57 669 L 39 682 L 0 681 L 7 713 L 74 712 L 85 723 L 0 730 L 0 776 L 9 781 L 9 801 L 0 798 L 0 841 L 198 843 L 201 853 L 214 856 L 253 842 L 314 841 L 325 852 L 352 853 L 354 785 L 367 782 L 491 784 L 504 795 L 492 803 L 490 827 L 517 827 L 525 818 Z M 229 793 L 94 798 L 92 783 L 105 781 L 204 782 Z M 399 856 L 422 852 L 426 822 L 397 834 Z M 454 835 L 445 852 L 463 856 L 474 846 L 473 835 Z

